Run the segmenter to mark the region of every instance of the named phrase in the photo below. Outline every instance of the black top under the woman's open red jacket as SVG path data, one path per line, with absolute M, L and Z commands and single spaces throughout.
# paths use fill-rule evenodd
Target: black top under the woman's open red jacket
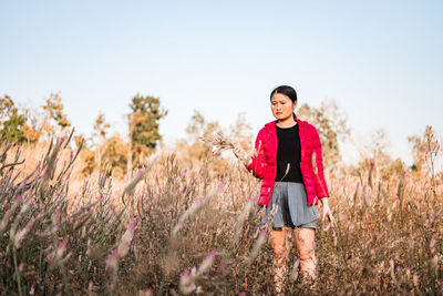
M 276 125 L 276 129 L 278 139 L 276 181 L 303 183 L 300 170 L 301 145 L 298 124 L 286 129 Z M 288 163 L 289 171 L 285 174 Z

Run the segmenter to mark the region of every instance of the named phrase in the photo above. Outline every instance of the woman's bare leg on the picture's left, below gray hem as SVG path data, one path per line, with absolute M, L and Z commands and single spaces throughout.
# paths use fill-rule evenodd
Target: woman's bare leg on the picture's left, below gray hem
M 286 276 L 286 259 L 288 255 L 288 237 L 286 227 L 276 228 L 270 231 L 270 245 L 274 249 L 275 257 L 272 259 L 274 283 L 276 292 L 280 293 Z

